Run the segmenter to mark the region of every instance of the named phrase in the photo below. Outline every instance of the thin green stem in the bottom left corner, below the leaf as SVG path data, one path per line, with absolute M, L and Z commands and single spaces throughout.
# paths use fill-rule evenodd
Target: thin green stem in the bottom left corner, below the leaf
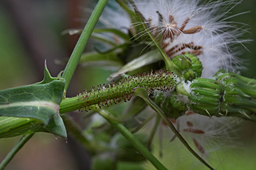
M 5 159 L 0 164 L 0 170 L 4 169 L 5 166 L 13 159 L 15 154 L 22 148 L 22 146 L 34 135 L 34 133 L 31 133 L 29 135 L 23 135 L 16 145 L 12 148 L 12 150 L 7 154 Z

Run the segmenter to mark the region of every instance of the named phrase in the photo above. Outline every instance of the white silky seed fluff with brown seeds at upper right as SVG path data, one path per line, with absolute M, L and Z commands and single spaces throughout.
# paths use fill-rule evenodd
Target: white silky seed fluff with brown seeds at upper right
M 227 21 L 239 15 L 231 13 L 241 1 L 160 0 L 135 1 L 148 28 L 156 38 L 161 37 L 163 49 L 173 58 L 185 52 L 195 54 L 203 64 L 204 78 L 211 78 L 220 68 L 227 71 L 241 69 L 241 50 L 237 44 L 250 40 L 238 39 L 247 32 L 245 24 Z M 245 12 L 244 12 L 245 13 Z M 135 23 L 139 25 L 141 23 Z M 237 27 L 237 25 L 242 25 Z M 144 34 L 144 31 L 142 31 Z M 246 48 L 245 48 L 246 49 Z

